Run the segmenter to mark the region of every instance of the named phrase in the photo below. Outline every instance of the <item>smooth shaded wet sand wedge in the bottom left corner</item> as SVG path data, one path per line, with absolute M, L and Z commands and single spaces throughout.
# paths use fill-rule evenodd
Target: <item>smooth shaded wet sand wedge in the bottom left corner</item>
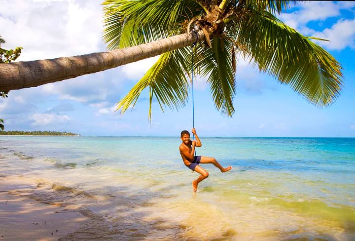
M 0 191 L 0 240 L 58 240 L 86 219 L 78 210 Z

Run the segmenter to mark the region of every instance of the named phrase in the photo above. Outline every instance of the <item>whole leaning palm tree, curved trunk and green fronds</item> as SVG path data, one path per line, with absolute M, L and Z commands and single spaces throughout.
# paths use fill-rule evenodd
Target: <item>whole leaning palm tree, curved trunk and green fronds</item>
M 126 97 L 122 112 L 149 87 L 161 108 L 188 97 L 192 44 L 196 73 L 207 77 L 216 108 L 234 112 L 235 56 L 250 58 L 310 103 L 332 104 L 342 87 L 340 64 L 275 14 L 299 1 L 105 0 L 104 40 L 112 51 L 0 65 L 0 90 L 39 86 L 161 55 Z M 158 40 L 160 39 L 160 40 Z M 324 40 L 324 39 L 323 39 Z

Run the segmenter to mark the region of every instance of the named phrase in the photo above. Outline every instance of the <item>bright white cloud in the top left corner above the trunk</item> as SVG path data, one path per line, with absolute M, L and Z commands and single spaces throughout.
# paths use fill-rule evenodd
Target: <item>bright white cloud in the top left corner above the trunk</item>
M 96 52 L 102 49 L 101 2 L 0 0 L 3 47 L 23 47 L 18 61 Z

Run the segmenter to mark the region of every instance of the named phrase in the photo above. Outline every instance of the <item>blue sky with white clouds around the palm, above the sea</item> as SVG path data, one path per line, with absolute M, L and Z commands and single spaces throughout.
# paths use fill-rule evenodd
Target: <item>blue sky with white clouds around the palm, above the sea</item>
M 106 51 L 101 0 L 0 0 L 0 35 L 5 49 L 23 47 L 16 61 L 51 59 Z M 355 3 L 306 2 L 278 16 L 316 42 L 343 67 L 340 97 L 316 107 L 289 86 L 238 59 L 233 117 L 214 106 L 205 79 L 194 83 L 195 128 L 199 136 L 355 137 Z M 177 110 L 153 103 L 148 93 L 120 114 L 116 103 L 158 57 L 65 81 L 21 90 L 0 99 L 8 131 L 67 131 L 83 136 L 180 136 L 192 129 L 192 99 Z

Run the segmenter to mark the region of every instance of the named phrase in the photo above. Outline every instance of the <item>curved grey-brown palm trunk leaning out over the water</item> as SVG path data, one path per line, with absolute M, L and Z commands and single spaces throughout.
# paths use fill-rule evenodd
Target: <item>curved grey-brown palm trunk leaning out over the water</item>
M 0 64 L 0 91 L 18 90 L 95 73 L 180 49 L 205 39 L 202 30 L 148 44 L 74 57 Z M 197 37 L 197 39 L 196 39 Z

